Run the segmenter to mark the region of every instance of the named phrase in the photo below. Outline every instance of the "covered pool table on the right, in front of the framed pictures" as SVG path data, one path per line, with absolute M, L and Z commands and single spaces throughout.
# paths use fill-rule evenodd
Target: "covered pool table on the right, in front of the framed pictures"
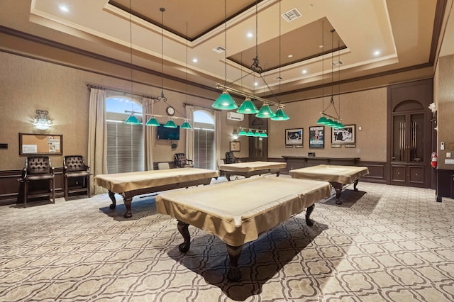
M 369 169 L 367 169 L 367 167 L 336 166 L 328 164 L 319 164 L 313 167 L 289 171 L 289 175 L 292 178 L 329 181 L 334 189 L 336 189 L 336 204 L 342 204 L 342 189 L 349 184 L 353 184 L 353 190 L 358 191 L 358 189 L 356 189 L 358 181 L 360 181 L 360 177 L 366 174 L 369 174 Z

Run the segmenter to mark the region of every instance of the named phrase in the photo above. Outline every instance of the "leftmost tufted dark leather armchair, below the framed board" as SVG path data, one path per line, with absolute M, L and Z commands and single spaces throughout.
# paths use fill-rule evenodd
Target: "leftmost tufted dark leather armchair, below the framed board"
M 36 197 L 52 197 L 52 203 L 55 203 L 55 174 L 52 165 L 50 164 L 50 157 L 48 156 L 29 156 L 26 159 L 26 167 L 23 168 L 22 178 L 18 179 L 23 182 L 23 206 L 27 206 L 28 198 Z M 33 183 L 39 186 L 39 182 L 43 183 L 48 181 L 48 189 L 43 191 L 36 191 L 31 193 L 30 186 Z

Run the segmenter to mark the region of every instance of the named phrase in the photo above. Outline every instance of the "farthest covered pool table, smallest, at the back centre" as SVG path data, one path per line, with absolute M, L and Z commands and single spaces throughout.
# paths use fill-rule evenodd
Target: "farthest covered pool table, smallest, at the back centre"
M 230 181 L 232 175 L 241 175 L 243 177 L 251 177 L 253 175 L 261 175 L 265 173 L 276 173 L 279 176 L 279 169 L 285 169 L 285 162 L 236 162 L 234 164 L 220 164 L 219 172 L 224 172 L 226 178 Z

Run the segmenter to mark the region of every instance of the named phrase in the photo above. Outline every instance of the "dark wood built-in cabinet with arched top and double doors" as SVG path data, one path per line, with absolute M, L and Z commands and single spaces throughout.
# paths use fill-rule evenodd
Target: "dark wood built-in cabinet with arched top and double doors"
M 432 81 L 388 88 L 387 183 L 431 187 Z

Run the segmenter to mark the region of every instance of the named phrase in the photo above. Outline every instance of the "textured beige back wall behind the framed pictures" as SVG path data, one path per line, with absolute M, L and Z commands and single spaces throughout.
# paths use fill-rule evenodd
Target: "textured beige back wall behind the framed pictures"
M 329 104 L 328 96 L 323 100 L 324 107 Z M 282 155 L 307 156 L 308 152 L 316 152 L 318 157 L 360 157 L 365 161 L 386 161 L 387 146 L 387 89 L 372 89 L 351 94 L 334 96 L 336 110 L 339 111 L 345 125 L 356 125 L 356 147 L 331 147 L 331 128 L 325 126 L 325 147 L 323 149 L 309 148 L 309 127 L 315 126 L 322 108 L 321 99 L 287 104 L 286 113 L 290 116 L 287 122 L 271 121 L 270 138 L 268 142 L 269 156 Z M 332 106 L 326 111 L 330 116 L 336 116 Z M 362 130 L 359 130 L 359 128 Z M 304 147 L 286 148 L 284 133 L 287 128 L 304 128 Z

